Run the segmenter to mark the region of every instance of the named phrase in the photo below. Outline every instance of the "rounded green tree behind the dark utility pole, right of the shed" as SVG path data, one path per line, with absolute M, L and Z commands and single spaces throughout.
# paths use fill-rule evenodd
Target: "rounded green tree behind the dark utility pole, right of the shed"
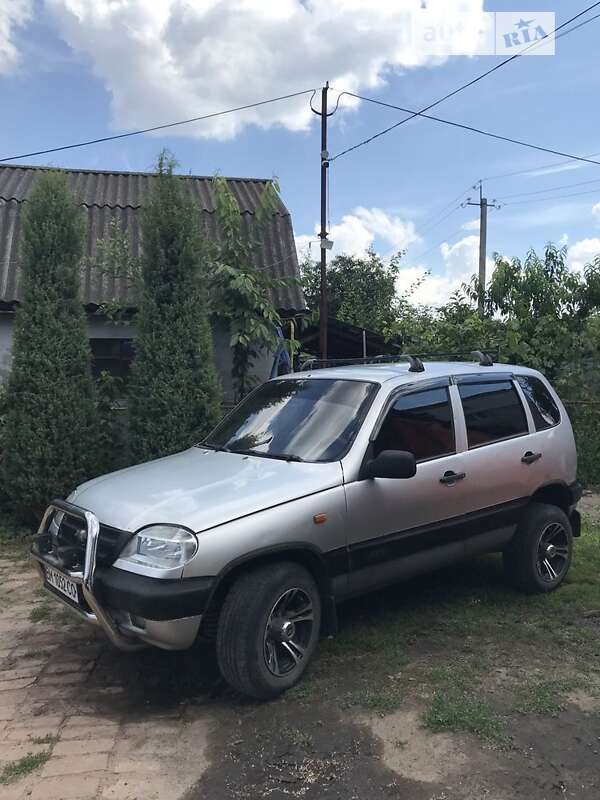
M 329 316 L 384 336 L 396 332 L 403 310 L 396 292 L 402 255 L 397 253 L 389 263 L 371 250 L 364 256 L 336 256 L 327 268 Z M 308 307 L 317 312 L 320 264 L 306 258 L 300 270 Z

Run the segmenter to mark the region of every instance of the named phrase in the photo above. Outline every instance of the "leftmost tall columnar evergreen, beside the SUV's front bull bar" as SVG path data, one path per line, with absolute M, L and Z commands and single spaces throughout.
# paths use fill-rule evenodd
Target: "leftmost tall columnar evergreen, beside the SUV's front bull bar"
M 42 173 L 23 228 L 23 303 L 6 394 L 2 474 L 9 506 L 33 523 L 96 472 L 97 414 L 78 296 L 81 212 L 66 178 Z

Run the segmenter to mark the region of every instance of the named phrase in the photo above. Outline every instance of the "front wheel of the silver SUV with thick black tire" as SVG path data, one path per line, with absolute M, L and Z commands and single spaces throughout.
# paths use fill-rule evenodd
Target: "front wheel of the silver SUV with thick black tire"
M 300 612 L 309 604 L 312 620 L 303 620 Z M 294 614 L 297 621 L 290 628 L 286 622 Z M 319 590 L 304 567 L 286 561 L 243 573 L 229 590 L 219 616 L 217 660 L 223 678 L 258 700 L 276 697 L 302 677 L 320 626 Z

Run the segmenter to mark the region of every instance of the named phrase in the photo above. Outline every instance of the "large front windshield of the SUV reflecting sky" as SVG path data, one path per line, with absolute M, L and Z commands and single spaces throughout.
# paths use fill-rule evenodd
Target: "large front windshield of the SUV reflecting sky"
M 296 461 L 337 461 L 354 441 L 376 390 L 366 381 L 269 381 L 242 400 L 204 445 Z

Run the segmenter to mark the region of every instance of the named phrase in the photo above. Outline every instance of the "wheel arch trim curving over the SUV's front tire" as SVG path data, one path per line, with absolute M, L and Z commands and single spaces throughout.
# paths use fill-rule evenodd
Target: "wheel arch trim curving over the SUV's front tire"
M 281 561 L 293 561 L 301 564 L 310 572 L 321 595 L 322 631 L 335 633 L 337 631 L 336 604 L 332 592 L 331 576 L 325 558 L 316 547 L 304 542 L 290 542 L 281 546 L 267 547 L 248 553 L 241 558 L 235 559 L 221 570 L 215 580 L 215 586 L 202 615 L 200 635 L 208 639 L 215 638 L 219 614 L 225 597 L 235 581 L 244 572 L 255 567 Z

